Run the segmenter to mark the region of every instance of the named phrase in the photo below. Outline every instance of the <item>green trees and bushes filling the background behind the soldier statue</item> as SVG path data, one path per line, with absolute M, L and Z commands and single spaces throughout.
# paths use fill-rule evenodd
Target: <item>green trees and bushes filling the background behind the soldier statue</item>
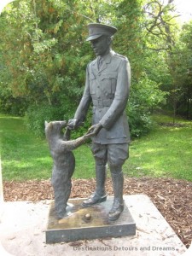
M 151 126 L 151 110 L 164 102 L 161 90 L 172 94 L 180 89 L 174 83 L 182 80 L 182 73 L 175 79 L 177 61 L 170 61 L 177 39 L 173 10 L 171 2 L 161 0 L 15 0 L 0 17 L 0 111 L 26 112 L 28 125 L 38 135 L 44 131 L 45 118 L 73 118 L 84 90 L 86 65 L 94 58 L 90 44 L 84 42 L 86 26 L 103 22 L 118 27 L 113 49 L 131 61 L 128 113 L 132 136 L 140 136 Z M 189 49 L 187 31 L 183 30 L 183 44 Z M 182 85 L 183 97 L 185 89 Z M 76 135 L 87 130 L 90 116 L 84 125 Z

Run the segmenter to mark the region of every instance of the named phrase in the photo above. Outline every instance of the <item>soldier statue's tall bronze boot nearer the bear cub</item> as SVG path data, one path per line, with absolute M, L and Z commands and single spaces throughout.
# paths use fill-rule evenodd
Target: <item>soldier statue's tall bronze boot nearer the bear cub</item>
M 84 207 L 91 207 L 97 203 L 107 200 L 105 192 L 105 180 L 107 176 L 107 166 L 96 165 L 96 191 L 90 195 L 90 198 L 83 202 Z

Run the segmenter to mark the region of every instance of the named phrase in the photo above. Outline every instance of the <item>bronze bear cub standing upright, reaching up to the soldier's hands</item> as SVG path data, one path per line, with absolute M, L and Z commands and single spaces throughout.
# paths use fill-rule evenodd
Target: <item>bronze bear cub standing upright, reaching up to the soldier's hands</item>
M 67 201 L 71 193 L 75 158 L 73 149 L 85 142 L 86 136 L 70 141 L 70 130 L 67 128 L 63 134 L 63 128 L 67 127 L 67 121 L 44 122 L 45 135 L 49 143 L 50 155 L 53 159 L 51 183 L 55 195 L 55 213 L 58 219 L 64 218 L 67 212 Z

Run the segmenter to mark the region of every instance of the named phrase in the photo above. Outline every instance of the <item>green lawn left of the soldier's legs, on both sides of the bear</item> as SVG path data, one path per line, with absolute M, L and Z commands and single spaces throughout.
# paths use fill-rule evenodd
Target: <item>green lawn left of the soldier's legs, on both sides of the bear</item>
M 48 143 L 28 131 L 24 119 L 0 115 L 0 148 L 3 180 L 47 179 L 52 159 Z M 73 177 L 94 177 L 89 145 L 74 150 L 77 170 Z

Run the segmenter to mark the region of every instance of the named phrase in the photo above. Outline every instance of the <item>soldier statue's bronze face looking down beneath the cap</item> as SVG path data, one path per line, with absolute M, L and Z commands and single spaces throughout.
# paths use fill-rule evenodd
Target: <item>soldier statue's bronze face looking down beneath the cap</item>
M 98 56 L 104 56 L 107 55 L 110 49 L 111 44 L 111 38 L 107 36 L 102 36 L 100 38 L 96 38 L 94 40 L 90 41 L 90 44 L 95 52 L 95 54 Z

